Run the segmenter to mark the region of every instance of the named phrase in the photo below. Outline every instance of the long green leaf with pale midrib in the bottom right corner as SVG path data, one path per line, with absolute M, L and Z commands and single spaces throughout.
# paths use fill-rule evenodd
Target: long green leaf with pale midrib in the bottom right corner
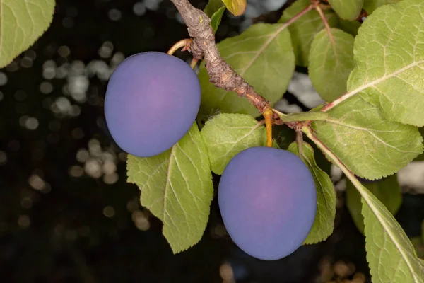
M 423 283 L 423 261 L 405 231 L 377 197 L 360 186 L 365 223 L 365 249 L 373 283 Z

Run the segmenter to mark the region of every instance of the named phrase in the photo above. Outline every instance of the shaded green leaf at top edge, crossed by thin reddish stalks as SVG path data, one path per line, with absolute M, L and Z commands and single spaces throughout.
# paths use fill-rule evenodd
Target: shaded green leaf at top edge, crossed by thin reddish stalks
M 293 16 L 296 16 L 300 11 L 310 6 L 310 4 L 310 0 L 295 1 L 284 10 L 283 16 L 281 16 L 278 22 L 286 23 L 290 21 Z M 329 21 L 329 25 L 336 27 L 338 23 L 336 13 L 326 10 L 324 11 L 324 15 Z M 293 50 L 295 51 L 296 65 L 307 66 L 312 40 L 314 40 L 315 35 L 322 29 L 324 29 L 324 23 L 319 13 L 315 10 L 307 12 L 288 27 L 293 42 Z

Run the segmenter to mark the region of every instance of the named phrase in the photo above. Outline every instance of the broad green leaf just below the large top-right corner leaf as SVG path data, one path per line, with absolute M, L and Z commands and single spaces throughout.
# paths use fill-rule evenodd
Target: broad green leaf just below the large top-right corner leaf
M 312 122 L 317 137 L 355 175 L 375 180 L 391 175 L 423 152 L 417 127 L 384 120 L 379 109 L 353 96 Z

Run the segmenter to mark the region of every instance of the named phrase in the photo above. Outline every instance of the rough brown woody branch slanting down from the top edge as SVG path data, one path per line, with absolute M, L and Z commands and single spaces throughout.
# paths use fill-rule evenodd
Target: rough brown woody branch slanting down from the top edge
M 256 93 L 253 86 L 250 86 L 220 56 L 211 27 L 211 19 L 206 13 L 192 6 L 188 0 L 171 1 L 187 25 L 189 35 L 193 37 L 190 52 L 194 59 L 200 61 L 203 58 L 205 61 L 209 81 L 218 88 L 235 91 L 239 96 L 249 99 L 261 113 L 270 108 L 269 102 Z

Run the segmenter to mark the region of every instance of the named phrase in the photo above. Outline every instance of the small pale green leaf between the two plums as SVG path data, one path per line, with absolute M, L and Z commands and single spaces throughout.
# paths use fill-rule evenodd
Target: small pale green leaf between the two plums
M 263 123 L 243 114 L 218 114 L 201 129 L 208 149 L 212 172 L 221 175 L 228 162 L 240 151 L 266 146 Z

